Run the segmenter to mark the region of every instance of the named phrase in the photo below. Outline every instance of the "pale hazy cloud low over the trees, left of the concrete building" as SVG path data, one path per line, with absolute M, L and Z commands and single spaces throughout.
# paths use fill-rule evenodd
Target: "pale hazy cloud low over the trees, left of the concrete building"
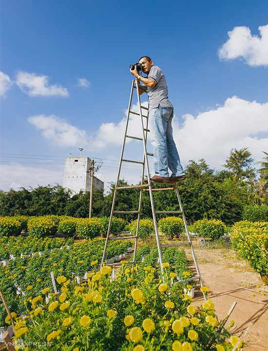
M 64 166 L 55 165 L 53 169 L 23 166 L 19 163 L 1 165 L 0 189 L 9 191 L 10 188 L 18 190 L 20 187 L 28 189 L 38 185 L 47 186 L 58 183 L 63 184 Z M 50 167 L 51 168 L 51 167 Z

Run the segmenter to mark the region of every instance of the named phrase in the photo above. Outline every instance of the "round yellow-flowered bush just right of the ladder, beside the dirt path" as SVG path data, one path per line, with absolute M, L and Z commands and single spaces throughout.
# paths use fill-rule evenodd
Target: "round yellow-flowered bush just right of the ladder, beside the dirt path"
M 224 235 L 226 228 L 222 221 L 216 219 L 202 219 L 196 221 L 193 227 L 199 235 L 212 239 L 218 239 L 220 236 Z

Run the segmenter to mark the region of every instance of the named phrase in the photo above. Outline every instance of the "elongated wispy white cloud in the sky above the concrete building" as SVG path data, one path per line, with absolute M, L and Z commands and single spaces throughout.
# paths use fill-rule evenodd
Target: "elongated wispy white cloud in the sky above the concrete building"
M 60 147 L 86 145 L 87 133 L 67 123 L 55 115 L 31 116 L 28 122 L 37 129 L 42 130 L 42 135 Z

